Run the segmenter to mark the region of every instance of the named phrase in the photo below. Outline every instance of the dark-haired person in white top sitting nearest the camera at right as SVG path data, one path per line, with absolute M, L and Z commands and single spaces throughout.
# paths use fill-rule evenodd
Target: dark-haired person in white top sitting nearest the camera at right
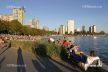
M 86 62 L 85 63 L 79 62 L 79 66 L 86 71 L 88 69 L 88 67 L 90 66 L 90 64 L 92 64 L 95 60 L 100 61 L 100 58 L 98 56 L 96 56 L 96 51 L 91 50 L 90 55 L 87 56 Z

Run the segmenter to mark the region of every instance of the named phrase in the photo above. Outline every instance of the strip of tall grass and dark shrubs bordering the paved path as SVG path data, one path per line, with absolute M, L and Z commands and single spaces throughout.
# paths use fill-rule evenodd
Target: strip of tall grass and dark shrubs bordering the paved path
M 36 55 L 43 57 L 50 57 L 54 59 L 64 59 L 67 57 L 66 51 L 62 46 L 55 45 L 53 43 L 43 42 L 43 41 L 17 41 L 12 40 L 11 47 L 21 48 L 22 50 L 33 52 Z

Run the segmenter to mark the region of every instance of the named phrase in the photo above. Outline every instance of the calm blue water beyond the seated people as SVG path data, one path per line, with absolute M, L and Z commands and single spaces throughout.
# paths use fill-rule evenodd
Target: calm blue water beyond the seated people
M 53 38 L 56 40 L 63 39 L 62 36 L 54 36 Z M 79 45 L 80 49 L 87 55 L 89 55 L 91 50 L 95 50 L 101 60 L 108 65 L 108 37 L 68 37 L 68 40 L 71 40 L 72 43 Z

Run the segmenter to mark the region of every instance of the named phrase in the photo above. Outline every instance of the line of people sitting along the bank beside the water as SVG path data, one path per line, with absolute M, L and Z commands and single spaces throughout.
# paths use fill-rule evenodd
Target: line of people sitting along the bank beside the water
M 100 58 L 96 55 L 95 50 L 91 50 L 90 55 L 86 55 L 83 51 L 80 50 L 80 46 L 72 44 L 71 41 L 67 41 L 66 37 L 64 37 L 64 39 L 62 40 L 59 39 L 56 41 L 54 38 L 49 38 L 48 41 L 55 44 L 63 45 L 63 47 L 68 53 L 68 56 L 72 57 L 75 61 L 77 61 L 79 66 L 85 71 L 94 61 L 97 60 L 98 63 L 100 63 Z

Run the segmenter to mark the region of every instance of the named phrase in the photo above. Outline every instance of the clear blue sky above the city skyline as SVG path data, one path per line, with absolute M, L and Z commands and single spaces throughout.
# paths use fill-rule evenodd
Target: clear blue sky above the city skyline
M 108 0 L 0 0 L 0 14 L 11 14 L 11 7 L 25 7 L 24 23 L 37 18 L 41 27 L 51 30 L 75 21 L 75 28 L 96 25 L 108 32 Z

